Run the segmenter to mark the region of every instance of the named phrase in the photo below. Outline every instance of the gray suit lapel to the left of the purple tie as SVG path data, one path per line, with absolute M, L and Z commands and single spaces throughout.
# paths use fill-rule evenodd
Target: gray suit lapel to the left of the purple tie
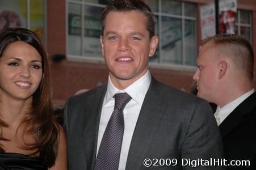
M 103 87 L 91 94 L 85 106 L 82 141 L 88 169 L 93 169 L 95 164 L 100 113 L 105 93 L 106 87 Z

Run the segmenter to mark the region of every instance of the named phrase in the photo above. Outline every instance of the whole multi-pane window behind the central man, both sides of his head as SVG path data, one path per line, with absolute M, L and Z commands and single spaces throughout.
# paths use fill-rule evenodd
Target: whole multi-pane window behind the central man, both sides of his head
M 103 59 L 99 42 L 100 13 L 111 0 L 68 1 L 69 57 Z M 196 4 L 146 0 L 156 16 L 160 43 L 150 63 L 194 66 L 196 59 Z

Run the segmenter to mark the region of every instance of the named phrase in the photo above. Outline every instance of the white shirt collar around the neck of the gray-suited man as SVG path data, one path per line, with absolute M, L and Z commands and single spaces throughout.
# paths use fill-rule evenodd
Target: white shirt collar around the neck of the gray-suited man
M 107 92 L 104 97 L 103 106 L 107 104 L 116 93 L 119 93 L 119 92 L 126 92 L 128 95 L 132 97 L 133 100 L 136 101 L 136 103 L 142 105 L 146 92 L 148 91 L 150 82 L 151 82 L 151 75 L 148 70 L 143 76 L 141 76 L 141 78 L 136 80 L 136 82 L 133 82 L 130 86 L 128 86 L 124 90 L 119 90 L 114 86 L 110 76 L 108 75 Z

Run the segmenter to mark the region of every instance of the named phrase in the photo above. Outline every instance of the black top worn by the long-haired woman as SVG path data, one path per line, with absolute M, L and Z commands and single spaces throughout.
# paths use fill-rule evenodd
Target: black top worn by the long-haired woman
M 1 170 L 47 170 L 47 165 L 40 159 L 17 153 L 0 152 Z

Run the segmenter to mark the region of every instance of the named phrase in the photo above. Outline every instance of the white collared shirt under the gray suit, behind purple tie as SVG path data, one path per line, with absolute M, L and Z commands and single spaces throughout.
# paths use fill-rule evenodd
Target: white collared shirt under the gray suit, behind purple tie
M 140 109 L 144 101 L 146 92 L 148 91 L 149 84 L 151 81 L 151 75 L 149 70 L 136 82 L 132 83 L 129 87 L 124 90 L 117 89 L 111 82 L 110 76 L 108 76 L 107 91 L 104 97 L 102 105 L 102 113 L 100 116 L 99 123 L 99 134 L 97 143 L 97 155 L 99 151 L 100 142 L 104 131 L 107 127 L 108 120 L 110 120 L 111 114 L 114 111 L 115 99 L 113 96 L 116 93 L 126 92 L 132 97 L 131 101 L 124 108 L 124 137 L 121 147 L 120 160 L 119 160 L 119 170 L 125 169 L 127 162 L 127 156 L 129 147 L 132 141 L 133 131 L 136 126 L 137 119 L 139 117 Z

